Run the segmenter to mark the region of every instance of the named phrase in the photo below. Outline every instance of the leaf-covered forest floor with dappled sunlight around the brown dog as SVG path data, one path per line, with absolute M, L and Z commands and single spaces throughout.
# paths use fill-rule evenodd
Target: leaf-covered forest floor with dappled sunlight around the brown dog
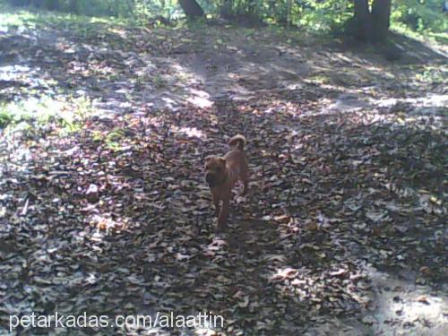
M 6 15 L 0 332 L 57 311 L 225 325 L 17 332 L 447 334 L 443 48 Z M 216 233 L 203 158 L 237 133 L 251 191 Z

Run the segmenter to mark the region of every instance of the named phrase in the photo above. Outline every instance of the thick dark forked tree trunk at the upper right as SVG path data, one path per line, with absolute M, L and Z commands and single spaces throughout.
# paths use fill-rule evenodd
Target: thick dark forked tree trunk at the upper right
M 354 15 L 350 30 L 359 39 L 385 41 L 390 26 L 392 0 L 354 0 Z

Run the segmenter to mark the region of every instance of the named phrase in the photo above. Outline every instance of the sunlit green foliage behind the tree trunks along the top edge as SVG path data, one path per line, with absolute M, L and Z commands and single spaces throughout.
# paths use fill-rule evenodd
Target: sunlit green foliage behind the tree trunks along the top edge
M 65 13 L 113 16 L 146 24 L 150 18 L 183 15 L 177 0 L 4 0 Z M 352 1 L 338 0 L 197 0 L 209 16 L 223 14 L 251 22 L 289 24 L 307 30 L 340 29 L 352 15 Z M 410 30 L 444 32 L 448 20 L 441 0 L 392 1 L 392 25 Z

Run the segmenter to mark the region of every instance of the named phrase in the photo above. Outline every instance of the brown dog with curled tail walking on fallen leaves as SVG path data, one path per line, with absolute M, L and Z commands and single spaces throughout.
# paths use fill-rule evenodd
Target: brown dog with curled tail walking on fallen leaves
M 228 141 L 232 147 L 224 157 L 205 158 L 205 181 L 210 186 L 215 211 L 218 217 L 218 229 L 224 227 L 228 218 L 228 204 L 232 198 L 232 188 L 238 180 L 244 184 L 243 194 L 247 193 L 248 167 L 244 147 L 246 138 L 237 134 Z M 220 201 L 222 209 L 220 211 Z

